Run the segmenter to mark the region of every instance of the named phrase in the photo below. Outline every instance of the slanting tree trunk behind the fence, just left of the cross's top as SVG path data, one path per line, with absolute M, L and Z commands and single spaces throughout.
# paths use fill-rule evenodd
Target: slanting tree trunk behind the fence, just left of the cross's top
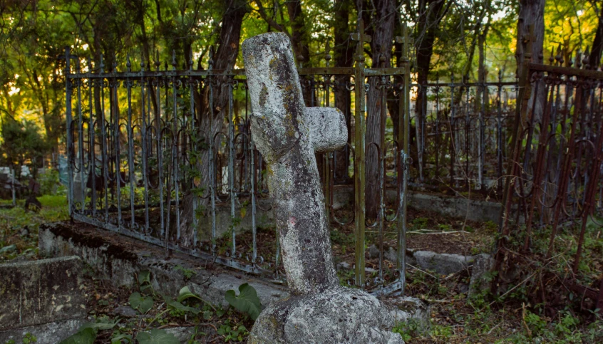
M 235 61 L 237 61 L 239 41 L 241 39 L 241 26 L 243 17 L 248 11 L 249 7 L 243 0 L 230 0 L 227 4 L 225 14 L 222 17 L 222 28 L 218 40 L 220 45 L 217 48 L 215 56 L 212 58 L 214 61 L 214 69 L 232 68 Z M 222 83 L 228 81 L 228 78 L 220 77 L 218 78 L 218 81 L 220 81 L 218 86 L 213 88 L 213 108 L 207 109 L 208 111 L 202 115 L 200 120 L 200 130 L 201 132 L 207 132 L 208 137 L 214 137 L 215 133 L 222 130 L 225 116 L 228 113 L 228 101 L 231 95 L 230 87 L 221 86 Z M 201 185 L 207 187 L 207 190 L 209 191 L 211 185 L 208 150 L 202 152 L 200 169 Z M 182 201 L 182 214 L 180 215 L 180 244 L 185 247 L 192 247 L 192 243 L 194 242 L 192 224 L 195 214 L 193 212 L 192 200 L 192 194 L 189 193 Z M 207 207 L 207 202 L 207 199 L 198 198 L 197 208 L 202 209 L 203 207 Z

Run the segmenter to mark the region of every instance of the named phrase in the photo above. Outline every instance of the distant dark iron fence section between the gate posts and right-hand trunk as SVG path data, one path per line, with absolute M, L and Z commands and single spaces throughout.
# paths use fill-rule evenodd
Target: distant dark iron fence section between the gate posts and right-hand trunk
M 413 185 L 444 190 L 502 191 L 517 83 L 413 84 L 417 162 Z M 492 192 L 494 191 L 494 192 Z

